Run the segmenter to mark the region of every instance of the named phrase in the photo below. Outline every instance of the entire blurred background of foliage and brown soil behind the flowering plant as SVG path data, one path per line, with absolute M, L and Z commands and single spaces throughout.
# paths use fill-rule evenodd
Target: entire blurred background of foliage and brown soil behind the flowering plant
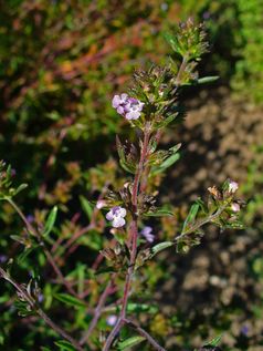
M 164 229 L 155 233 L 161 239 L 175 236 L 190 203 L 227 177 L 239 182 L 241 197 L 248 200 L 246 228 L 224 234 L 208 228 L 202 245 L 187 256 L 160 255 L 146 268 L 150 278 L 141 278 L 138 287 L 138 299 L 154 297 L 157 307 L 146 313 L 150 319 L 141 311 L 138 318 L 168 350 L 192 350 L 223 333 L 223 350 L 260 351 L 262 0 L 0 1 L 0 158 L 12 164 L 15 183 L 29 184 L 18 202 L 32 221 L 40 224 L 59 205 L 55 252 L 60 240 L 69 240 L 88 223 L 81 199 L 96 199 L 105 185 L 122 184 L 115 135 L 130 131 L 112 109 L 113 95 L 127 90 L 135 69 L 166 62 L 170 49 L 164 33 L 188 17 L 204 21 L 209 33 L 211 49 L 200 63 L 200 75 L 220 79 L 186 91 L 187 118 L 162 141 L 182 142 L 182 152 L 160 190 L 177 217 L 164 219 Z M 6 262 L 21 251 L 10 239 L 21 223 L 9 205 L 0 206 L 0 260 Z M 91 265 L 96 250 L 107 244 L 104 228 L 98 217 L 96 228 L 66 258 L 57 250 L 64 272 L 74 276 L 76 267 L 78 272 Z M 46 277 L 44 309 L 59 318 L 64 307 L 54 298 L 57 291 L 49 282 L 53 276 L 41 252 L 27 257 L 14 275 L 27 280 L 35 262 Z M 141 295 L 141 286 L 147 295 Z M 1 282 L 1 292 L 2 350 L 41 350 L 53 340 L 33 317 L 17 317 L 10 287 Z M 99 282 L 94 282 L 87 302 L 95 306 L 98 292 Z M 88 324 L 80 311 L 67 313 L 76 330 Z

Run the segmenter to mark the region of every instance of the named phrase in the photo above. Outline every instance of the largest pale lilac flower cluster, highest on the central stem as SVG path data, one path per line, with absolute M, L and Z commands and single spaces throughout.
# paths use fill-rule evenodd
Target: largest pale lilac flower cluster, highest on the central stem
M 125 116 L 126 120 L 138 120 L 144 107 L 144 103 L 127 94 L 115 95 L 113 99 L 113 107 L 117 113 Z

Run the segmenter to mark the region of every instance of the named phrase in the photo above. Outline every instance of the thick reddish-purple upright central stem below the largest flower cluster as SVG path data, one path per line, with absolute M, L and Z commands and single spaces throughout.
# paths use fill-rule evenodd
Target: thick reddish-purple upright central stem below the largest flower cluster
M 125 279 L 125 286 L 124 286 L 124 298 L 123 298 L 123 304 L 119 313 L 119 318 L 109 333 L 103 351 L 108 351 L 114 339 L 116 338 L 117 333 L 122 329 L 123 324 L 125 323 L 126 319 L 126 310 L 128 304 L 128 297 L 129 297 L 129 290 L 132 286 L 132 279 L 134 275 L 134 267 L 136 261 L 136 255 L 137 255 L 137 237 L 138 237 L 138 189 L 139 189 L 139 183 L 141 178 L 141 174 L 144 172 L 145 162 L 147 159 L 148 154 L 148 144 L 149 144 L 149 137 L 150 137 L 150 125 L 147 123 L 144 132 L 144 142 L 143 147 L 140 151 L 140 159 L 138 164 L 137 172 L 135 174 L 133 190 L 132 190 L 132 205 L 133 205 L 133 220 L 130 224 L 130 235 L 129 240 L 132 241 L 132 248 L 130 248 L 130 261 L 129 267 L 126 273 Z

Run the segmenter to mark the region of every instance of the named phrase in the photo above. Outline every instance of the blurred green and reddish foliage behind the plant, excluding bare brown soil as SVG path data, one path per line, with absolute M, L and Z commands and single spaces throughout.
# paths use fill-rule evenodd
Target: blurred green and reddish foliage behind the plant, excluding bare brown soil
M 169 55 L 164 33 L 179 20 L 193 16 L 204 20 L 212 42 L 210 63 L 206 62 L 201 69 L 221 75 L 223 84 L 261 104 L 262 7 L 262 0 L 1 1 L 0 158 L 15 167 L 14 183 L 29 183 L 24 198 L 21 195 L 18 198 L 35 225 L 41 227 L 50 208 L 59 205 L 59 218 L 50 238 L 52 252 L 60 268 L 70 271 L 67 279 L 77 292 L 84 297 L 90 293 L 86 298 L 88 307 L 96 306 L 105 279 L 102 272 L 98 282 L 91 285 L 84 277 L 93 277 L 94 270 L 87 267 L 94 265 L 95 251 L 105 247 L 109 233 L 99 215 L 96 226 L 86 228 L 91 218 L 80 195 L 97 198 L 105 185 L 122 184 L 120 177 L 116 180 L 116 174 L 119 176 L 116 162 L 108 159 L 109 153 L 116 152 L 114 138 L 122 123 L 111 107 L 113 94 L 125 91 L 134 69 L 147 66 L 149 61 L 160 63 Z M 260 179 L 255 179 L 255 173 Z M 257 164 L 251 165 L 251 177 L 244 188 L 245 194 L 252 194 L 255 187 L 259 189 L 259 195 L 249 204 L 246 219 L 253 226 L 256 217 L 260 228 L 261 173 Z M 38 269 L 33 268 L 40 266 L 46 278 L 40 282 L 44 310 L 61 320 L 65 329 L 72 326 L 63 318 L 66 313 L 67 320 L 73 321 L 73 333 L 77 328 L 87 329 L 91 314 L 81 304 L 73 303 L 75 309 L 72 309 L 63 296 L 63 285 L 57 288 L 54 283 L 57 278 L 40 248 L 32 248 L 24 257 L 15 240 L 10 244 L 10 233 L 18 234 L 21 224 L 8 204 L 0 205 L 0 260 L 7 265 L 9 258 L 17 256 L 13 273 L 20 281 L 29 280 L 30 276 L 38 279 Z M 186 214 L 186 208 L 173 210 L 177 218 L 165 219 L 164 229 L 158 228 L 157 235 L 161 239 L 171 238 Z M 105 230 L 106 235 L 102 236 Z M 69 245 L 69 240 L 81 231 L 84 235 Z M 231 238 L 229 240 L 232 242 Z M 262 281 L 262 258 L 259 252 L 252 254 L 248 259 L 257 289 Z M 245 335 L 239 329 L 248 316 L 261 320 L 263 302 L 259 300 L 262 297 L 253 308 L 246 307 L 248 311 L 232 302 L 222 303 L 210 313 L 193 309 L 186 314 L 176 308 L 167 311 L 155 304 L 146 306 L 144 301 L 154 295 L 159 299 L 160 289 L 173 289 L 165 286 L 165 280 L 173 279 L 169 259 L 166 254 L 160 255 L 158 262 L 144 268 L 147 270 L 144 276 L 150 278 L 141 278 L 137 287 L 138 304 L 128 307 L 156 338 L 167 341 L 168 331 L 171 335 L 168 348 L 190 350 L 192 344 L 200 344 L 201 339 L 231 329 L 233 316 L 238 319 L 241 316 L 235 331 L 231 331 L 231 337 L 224 341 L 231 345 L 225 350 L 262 347 L 259 334 L 249 332 Z M 85 265 L 81 264 L 83 260 Z M 180 262 L 173 261 L 173 265 L 180 270 Z M 8 351 L 36 350 L 40 345 L 53 348 L 56 338 L 53 331 L 32 316 L 24 320 L 18 317 L 12 288 L 1 285 L 3 291 L 0 298 L 0 348 Z M 111 308 L 106 311 L 114 312 Z M 35 329 L 31 329 L 31 324 Z M 255 326 L 256 333 L 261 330 L 259 324 L 255 322 L 250 328 Z M 99 329 L 106 332 L 111 328 L 101 321 Z

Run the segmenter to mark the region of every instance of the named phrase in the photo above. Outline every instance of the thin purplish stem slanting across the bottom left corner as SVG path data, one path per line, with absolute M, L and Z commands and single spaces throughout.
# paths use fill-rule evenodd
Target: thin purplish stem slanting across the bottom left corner
M 9 281 L 17 290 L 17 292 L 23 298 L 24 301 L 27 301 L 32 310 L 35 311 L 36 314 L 39 314 L 44 322 L 50 326 L 59 335 L 67 340 L 77 350 L 77 351 L 84 351 L 84 349 L 80 345 L 80 343 L 73 339 L 67 332 L 65 332 L 61 327 L 55 324 L 50 317 L 45 314 L 45 312 L 36 306 L 35 301 L 33 298 L 28 293 L 27 290 L 24 290 L 14 279 L 10 277 L 10 275 L 3 270 L 0 267 L 0 277 L 2 277 L 4 280 Z

